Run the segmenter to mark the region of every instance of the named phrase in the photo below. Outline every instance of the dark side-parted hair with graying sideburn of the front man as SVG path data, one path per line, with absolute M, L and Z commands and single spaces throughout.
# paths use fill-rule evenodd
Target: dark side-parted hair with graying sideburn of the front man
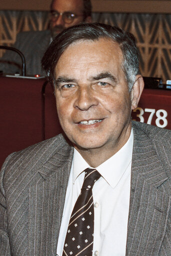
M 119 28 L 99 23 L 76 25 L 55 37 L 41 61 L 42 68 L 46 71 L 50 83 L 55 86 L 54 70 L 56 64 L 69 45 L 79 40 L 97 41 L 100 38 L 110 39 L 119 45 L 123 54 L 122 68 L 130 91 L 136 75 L 139 74 L 138 52 L 134 36 Z

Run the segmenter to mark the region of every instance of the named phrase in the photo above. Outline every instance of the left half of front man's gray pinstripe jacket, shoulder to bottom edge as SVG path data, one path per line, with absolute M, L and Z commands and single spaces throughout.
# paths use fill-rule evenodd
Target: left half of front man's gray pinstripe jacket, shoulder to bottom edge
M 59 134 L 8 156 L 0 172 L 0 255 L 56 254 L 72 155 Z

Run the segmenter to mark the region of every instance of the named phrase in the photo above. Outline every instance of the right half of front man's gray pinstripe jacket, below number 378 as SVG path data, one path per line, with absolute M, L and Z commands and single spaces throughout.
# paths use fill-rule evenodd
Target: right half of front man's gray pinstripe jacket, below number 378
M 132 127 L 126 256 L 170 256 L 171 132 L 140 122 Z

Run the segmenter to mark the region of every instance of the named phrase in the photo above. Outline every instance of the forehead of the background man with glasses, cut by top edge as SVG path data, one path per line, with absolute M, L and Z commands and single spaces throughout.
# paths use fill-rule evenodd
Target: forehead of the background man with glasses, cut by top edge
M 58 12 L 82 12 L 82 0 L 53 0 L 51 9 Z

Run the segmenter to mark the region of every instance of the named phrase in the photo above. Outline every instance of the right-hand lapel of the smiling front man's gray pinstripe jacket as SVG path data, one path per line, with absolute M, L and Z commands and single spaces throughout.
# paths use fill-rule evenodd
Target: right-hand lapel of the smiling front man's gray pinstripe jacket
M 170 197 L 161 189 L 167 176 L 148 136 L 136 128 L 133 134 L 126 256 L 156 256 L 170 207 Z

